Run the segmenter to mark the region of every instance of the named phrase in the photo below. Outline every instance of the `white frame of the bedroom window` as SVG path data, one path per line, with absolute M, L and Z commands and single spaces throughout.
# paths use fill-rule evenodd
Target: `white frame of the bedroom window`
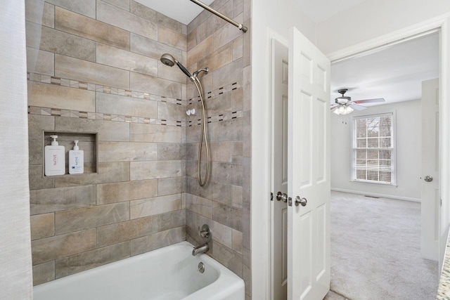
M 369 183 L 369 184 L 375 184 L 375 185 L 392 185 L 397 186 L 397 143 L 396 143 L 396 131 L 397 131 L 397 122 L 396 122 L 396 111 L 392 112 L 383 112 L 383 113 L 377 113 L 372 115 L 359 115 L 352 117 L 352 140 L 351 142 L 351 152 L 352 152 L 352 162 L 351 162 L 351 178 L 350 181 L 356 182 L 356 183 Z M 366 145 L 366 148 L 357 148 L 356 147 L 356 120 L 358 119 L 368 119 L 373 117 L 391 117 L 391 123 L 392 123 L 392 131 L 391 131 L 391 147 L 390 148 L 368 148 Z M 357 149 L 367 149 L 367 150 L 383 150 L 383 149 L 390 149 L 391 150 L 391 181 L 372 181 L 372 180 L 364 180 L 364 179 L 358 179 L 356 178 L 356 150 Z M 379 158 L 378 158 L 379 159 Z

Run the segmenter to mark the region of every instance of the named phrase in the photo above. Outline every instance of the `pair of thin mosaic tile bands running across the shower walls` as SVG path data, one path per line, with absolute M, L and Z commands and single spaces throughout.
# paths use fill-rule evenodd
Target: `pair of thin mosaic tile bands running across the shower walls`
M 27 79 L 30 81 L 37 81 L 44 84 L 53 84 L 58 86 L 66 86 L 72 89 L 85 89 L 89 91 L 97 91 L 100 93 L 111 93 L 120 96 L 127 96 L 133 98 L 141 98 L 155 101 L 162 101 L 167 103 L 174 103 L 178 105 L 192 105 L 195 101 L 200 101 L 200 96 L 191 98 L 189 100 L 181 100 L 176 98 L 168 98 L 164 96 L 153 95 L 149 93 L 142 93 L 137 91 L 129 91 L 125 89 L 117 89 L 110 86 L 103 86 L 99 84 L 89 84 L 83 81 L 75 81 L 70 79 L 64 79 L 60 77 L 53 77 L 44 74 L 37 73 L 27 73 Z M 205 93 L 205 98 L 213 98 L 219 96 L 223 93 L 228 93 L 240 88 L 240 84 L 233 83 L 227 86 L 215 89 L 214 91 L 209 91 Z M 141 124 L 157 124 L 157 125 L 167 125 L 167 126 L 193 126 L 200 125 L 201 120 L 196 119 L 195 121 L 172 121 L 166 119 L 150 119 L 148 117 L 135 117 L 127 115 L 112 115 L 104 114 L 102 112 L 81 112 L 77 110 L 62 110 L 58 108 L 51 107 L 38 107 L 38 106 L 28 106 L 28 113 L 30 115 L 44 115 L 44 116 L 54 116 L 54 117 L 72 117 L 79 119 L 96 119 L 103 121 L 114 121 L 114 122 L 129 122 L 129 123 L 141 123 Z M 236 112 L 227 112 L 225 114 L 207 117 L 208 123 L 221 122 L 229 119 L 237 119 L 243 116 L 243 111 L 238 110 Z

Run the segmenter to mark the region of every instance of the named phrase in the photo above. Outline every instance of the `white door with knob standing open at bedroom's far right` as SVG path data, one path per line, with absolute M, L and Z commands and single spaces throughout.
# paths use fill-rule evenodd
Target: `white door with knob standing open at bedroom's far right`
M 421 252 L 439 260 L 439 79 L 422 83 Z

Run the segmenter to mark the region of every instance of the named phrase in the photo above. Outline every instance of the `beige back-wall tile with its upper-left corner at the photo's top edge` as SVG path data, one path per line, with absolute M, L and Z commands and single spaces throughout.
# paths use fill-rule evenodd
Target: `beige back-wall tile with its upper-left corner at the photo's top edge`
M 158 25 L 144 18 L 139 17 L 97 0 L 97 20 L 122 28 L 129 32 L 140 34 L 149 39 L 158 40 Z

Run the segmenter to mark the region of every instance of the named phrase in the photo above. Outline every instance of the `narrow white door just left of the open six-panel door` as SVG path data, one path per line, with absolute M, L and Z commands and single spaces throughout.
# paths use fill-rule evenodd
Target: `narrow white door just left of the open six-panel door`
M 288 47 L 271 41 L 272 62 L 272 190 L 271 291 L 273 300 L 288 297 L 288 203 L 276 197 L 288 193 Z

